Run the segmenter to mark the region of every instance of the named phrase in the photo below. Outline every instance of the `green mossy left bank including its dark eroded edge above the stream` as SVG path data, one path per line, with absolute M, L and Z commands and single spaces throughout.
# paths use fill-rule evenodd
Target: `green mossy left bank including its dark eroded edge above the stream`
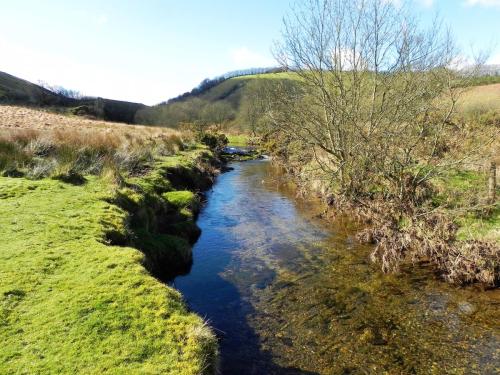
M 159 279 L 189 269 L 215 162 L 191 150 L 125 180 L 0 177 L 0 373 L 213 374 L 214 334 Z

